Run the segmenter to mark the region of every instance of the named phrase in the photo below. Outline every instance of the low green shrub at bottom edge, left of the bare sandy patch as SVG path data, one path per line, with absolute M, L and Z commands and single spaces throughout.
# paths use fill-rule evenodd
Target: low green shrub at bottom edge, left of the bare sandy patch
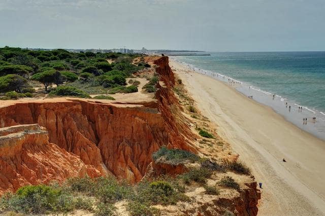
M 127 203 L 126 209 L 131 216 L 154 216 L 159 215 L 159 210 L 153 207 L 149 207 L 140 203 L 139 201 L 131 201 Z

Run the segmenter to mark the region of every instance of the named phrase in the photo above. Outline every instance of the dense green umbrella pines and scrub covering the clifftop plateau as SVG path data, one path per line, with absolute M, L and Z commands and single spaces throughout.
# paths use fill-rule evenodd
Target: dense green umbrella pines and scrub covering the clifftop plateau
M 137 92 L 139 81 L 126 87 L 126 78 L 148 66 L 132 64 L 133 59 L 140 56 L 138 54 L 71 53 L 63 49 L 35 51 L 4 47 L 0 48 L 0 56 L 0 99 L 29 97 L 41 92 L 74 97 L 88 97 L 93 93 Z M 17 94 L 7 94 L 12 91 Z

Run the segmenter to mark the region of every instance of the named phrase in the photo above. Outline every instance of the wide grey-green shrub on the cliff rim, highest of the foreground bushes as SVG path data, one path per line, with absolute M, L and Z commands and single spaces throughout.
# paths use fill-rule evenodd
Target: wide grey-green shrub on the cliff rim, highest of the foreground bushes
M 165 160 L 173 164 L 184 162 L 185 160 L 189 160 L 190 162 L 195 162 L 200 159 L 199 156 L 191 152 L 187 152 L 185 150 L 179 150 L 179 149 L 167 149 L 164 146 L 161 147 L 157 152 L 154 152 L 152 154 L 152 158 L 155 161 L 159 158 L 164 158 Z

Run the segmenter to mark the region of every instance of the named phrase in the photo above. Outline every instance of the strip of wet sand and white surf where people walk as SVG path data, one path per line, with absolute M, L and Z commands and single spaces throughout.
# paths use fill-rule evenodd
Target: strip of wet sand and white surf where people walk
M 175 58 L 173 58 L 173 61 L 180 63 L 191 71 L 195 71 L 199 74 L 209 76 L 215 80 L 228 84 L 232 88 L 236 89 L 239 93 L 247 97 L 252 95 L 253 100 L 260 104 L 271 107 L 275 113 L 281 115 L 286 121 L 325 141 L 325 113 L 322 111 L 298 104 L 297 101 L 282 97 L 281 95 L 274 94 L 275 97 L 272 98 L 273 93 L 259 89 L 256 86 L 248 85 L 247 83 L 236 80 L 232 77 L 228 77 L 210 70 L 200 69 L 186 62 L 180 62 Z M 285 105 L 285 102 L 287 102 L 287 105 Z M 289 106 L 291 109 L 289 109 Z M 299 106 L 302 107 L 302 110 L 298 109 Z M 315 122 L 312 120 L 313 117 L 316 117 Z M 306 123 L 303 121 L 304 118 L 308 119 Z

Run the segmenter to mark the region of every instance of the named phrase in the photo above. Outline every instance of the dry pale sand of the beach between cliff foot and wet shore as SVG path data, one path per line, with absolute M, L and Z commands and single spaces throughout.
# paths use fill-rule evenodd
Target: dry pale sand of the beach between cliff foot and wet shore
M 263 183 L 259 215 L 325 215 L 324 141 L 225 83 L 187 73 L 174 61 L 170 65 L 203 115 Z

